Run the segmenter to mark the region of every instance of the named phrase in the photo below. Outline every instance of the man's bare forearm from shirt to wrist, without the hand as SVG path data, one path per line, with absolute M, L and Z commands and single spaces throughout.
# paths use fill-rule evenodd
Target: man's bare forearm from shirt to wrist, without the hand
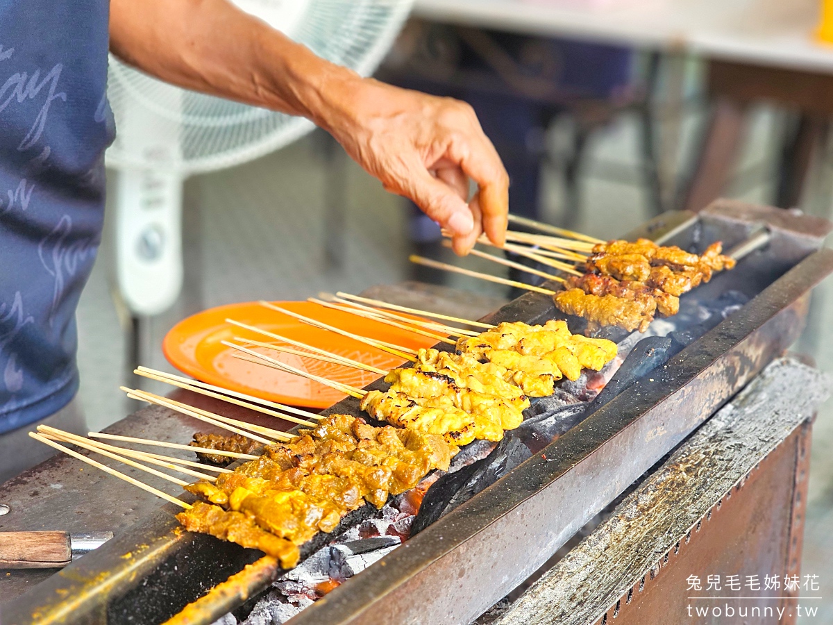
M 226 0 L 112 0 L 112 52 L 199 92 L 310 117 L 357 76 L 317 57 Z

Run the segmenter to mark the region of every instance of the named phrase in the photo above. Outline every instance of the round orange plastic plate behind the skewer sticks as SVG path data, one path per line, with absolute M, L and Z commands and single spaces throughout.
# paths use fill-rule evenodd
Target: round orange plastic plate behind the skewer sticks
M 432 338 L 393 328 L 385 323 L 357 317 L 350 313 L 325 308 L 312 302 L 279 302 L 276 304 L 291 310 L 293 313 L 317 319 L 336 328 L 347 330 L 347 332 L 406 348 L 430 348 L 436 343 Z M 385 370 L 398 367 L 404 362 L 402 358 L 397 358 L 352 338 L 313 328 L 287 315 L 265 308 L 257 302 L 210 308 L 183 319 L 167 333 L 165 340 L 162 342 L 162 351 L 165 353 L 165 358 L 182 373 L 187 373 L 192 378 L 205 383 L 216 384 L 232 391 L 248 393 L 272 402 L 307 408 L 329 408 L 332 404 L 346 397 L 344 393 L 340 393 L 322 383 L 234 358 L 234 354 L 239 354 L 239 352 L 222 345 L 221 341 L 232 341 L 239 337 L 262 343 L 286 345 L 299 351 L 303 350 L 261 334 L 232 326 L 230 323 L 226 323 L 227 318 L 257 326 L 257 328 L 301 341 L 307 345 L 312 345 L 312 347 L 326 349 L 340 356 L 346 356 L 360 363 L 370 364 Z M 254 347 L 252 350 L 264 353 L 270 358 L 275 358 L 282 363 L 292 365 L 292 367 L 357 388 L 363 388 L 379 378 L 376 373 L 324 363 L 313 358 L 275 352 L 267 348 Z M 245 354 L 243 355 L 245 357 Z

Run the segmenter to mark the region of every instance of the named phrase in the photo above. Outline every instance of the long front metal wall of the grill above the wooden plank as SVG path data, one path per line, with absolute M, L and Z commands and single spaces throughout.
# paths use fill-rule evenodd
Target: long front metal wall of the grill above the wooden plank
M 833 252 L 806 258 L 656 378 L 623 393 L 292 625 L 470 622 L 786 350 L 801 333 L 811 288 L 831 271 Z

